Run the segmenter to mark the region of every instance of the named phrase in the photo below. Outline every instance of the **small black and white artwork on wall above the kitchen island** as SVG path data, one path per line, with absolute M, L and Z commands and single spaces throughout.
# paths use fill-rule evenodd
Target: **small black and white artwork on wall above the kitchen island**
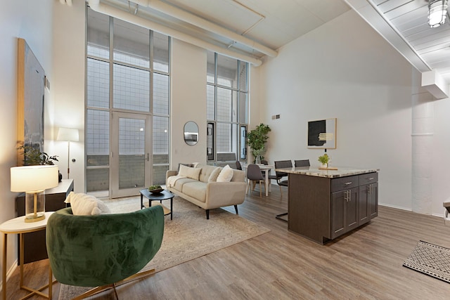
M 336 148 L 336 118 L 308 122 L 308 148 Z

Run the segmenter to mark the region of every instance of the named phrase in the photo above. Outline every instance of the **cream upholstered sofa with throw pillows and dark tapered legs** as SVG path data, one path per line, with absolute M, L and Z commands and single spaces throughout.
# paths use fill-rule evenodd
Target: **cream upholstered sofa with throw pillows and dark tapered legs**
M 225 171 L 223 171 L 226 169 Z M 229 176 L 230 170 L 232 177 Z M 226 177 L 231 177 L 231 179 Z M 229 181 L 226 181 L 228 180 Z M 218 182 L 223 181 L 226 182 Z M 180 165 L 179 171 L 166 172 L 166 188 L 206 210 L 210 219 L 210 209 L 234 205 L 238 214 L 238 204 L 245 200 L 245 171 L 195 164 L 195 167 Z

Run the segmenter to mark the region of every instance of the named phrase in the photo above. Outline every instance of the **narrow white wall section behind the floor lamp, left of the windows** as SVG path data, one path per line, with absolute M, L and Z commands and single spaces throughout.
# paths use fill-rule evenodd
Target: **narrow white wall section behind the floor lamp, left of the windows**
M 86 65 L 86 13 L 84 1 L 72 6 L 55 3 L 53 14 L 53 136 L 52 154 L 58 155 L 63 178 L 68 175 L 68 142 L 56 141 L 59 127 L 79 129 L 79 142 L 70 142 L 70 178 L 75 192 L 85 191 L 84 180 L 84 85 Z M 75 159 L 75 162 L 72 162 Z

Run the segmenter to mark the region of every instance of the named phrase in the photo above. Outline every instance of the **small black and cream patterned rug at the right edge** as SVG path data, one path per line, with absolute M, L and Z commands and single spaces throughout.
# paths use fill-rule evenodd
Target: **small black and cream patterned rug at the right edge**
M 403 266 L 450 283 L 450 249 L 419 241 Z

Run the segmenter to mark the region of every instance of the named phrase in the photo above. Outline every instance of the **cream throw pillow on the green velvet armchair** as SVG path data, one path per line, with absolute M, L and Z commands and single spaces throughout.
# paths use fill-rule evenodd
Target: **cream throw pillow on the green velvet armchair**
M 70 192 L 65 203 L 70 203 L 72 213 L 78 216 L 94 216 L 95 214 L 110 214 L 110 209 L 103 201 L 92 195 Z

